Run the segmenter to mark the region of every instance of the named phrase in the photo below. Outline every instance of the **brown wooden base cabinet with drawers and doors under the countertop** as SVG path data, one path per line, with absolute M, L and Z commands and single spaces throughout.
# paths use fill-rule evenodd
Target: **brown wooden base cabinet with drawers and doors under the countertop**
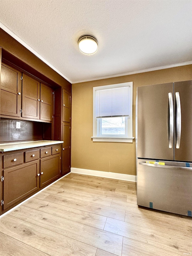
M 0 155 L 0 215 L 61 176 L 60 152 L 56 144 Z

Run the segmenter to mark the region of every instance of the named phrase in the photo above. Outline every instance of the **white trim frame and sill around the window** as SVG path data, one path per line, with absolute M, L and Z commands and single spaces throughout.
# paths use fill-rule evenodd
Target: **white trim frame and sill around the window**
M 102 136 L 99 137 L 98 131 L 97 131 L 97 120 L 96 120 L 96 91 L 102 90 L 102 89 L 110 89 L 110 88 L 116 88 L 116 87 L 123 87 L 123 86 L 130 86 L 131 89 L 131 108 L 130 108 L 130 118 L 128 118 L 128 137 L 110 137 L 110 136 Z M 127 82 L 127 83 L 118 83 L 108 86 L 97 86 L 93 87 L 93 136 L 91 137 L 93 141 L 98 142 L 133 142 L 133 82 Z

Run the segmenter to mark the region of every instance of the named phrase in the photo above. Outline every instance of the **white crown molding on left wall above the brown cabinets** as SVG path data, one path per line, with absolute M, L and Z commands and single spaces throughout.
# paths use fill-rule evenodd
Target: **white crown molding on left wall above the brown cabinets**
M 66 77 L 61 71 L 59 71 L 57 68 L 55 68 L 52 64 L 50 64 L 44 57 L 42 57 L 38 52 L 36 52 L 29 44 L 26 44 L 21 38 L 19 38 L 13 31 L 8 29 L 3 23 L 0 22 L 0 28 L 3 29 L 7 34 L 9 34 L 11 37 L 13 37 L 16 41 L 18 41 L 20 44 L 22 44 L 25 48 L 27 48 L 30 52 L 32 52 L 35 56 L 37 56 L 39 59 L 41 59 L 46 65 L 48 65 L 50 68 L 52 68 L 55 72 L 57 72 L 61 77 L 64 77 L 69 83 L 72 83 L 72 81 Z

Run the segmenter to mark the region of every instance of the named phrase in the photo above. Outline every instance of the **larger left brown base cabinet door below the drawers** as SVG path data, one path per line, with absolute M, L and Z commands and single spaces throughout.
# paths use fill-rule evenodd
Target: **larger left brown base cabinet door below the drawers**
M 4 170 L 3 209 L 39 189 L 39 160 Z

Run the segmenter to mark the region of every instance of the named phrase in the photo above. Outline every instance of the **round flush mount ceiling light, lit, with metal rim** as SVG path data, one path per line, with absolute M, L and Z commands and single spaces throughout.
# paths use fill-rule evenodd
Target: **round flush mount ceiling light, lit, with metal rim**
M 86 55 L 94 54 L 98 50 L 97 40 L 90 35 L 80 37 L 78 40 L 78 45 L 79 51 Z

